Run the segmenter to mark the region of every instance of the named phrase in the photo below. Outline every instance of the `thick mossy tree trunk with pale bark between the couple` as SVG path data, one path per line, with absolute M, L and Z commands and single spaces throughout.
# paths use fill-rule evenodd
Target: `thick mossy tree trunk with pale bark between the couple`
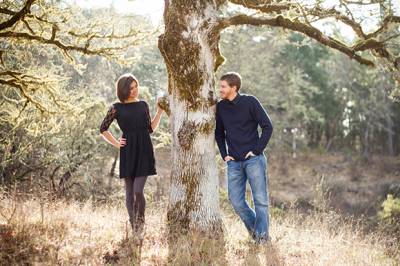
M 219 184 L 214 144 L 217 19 L 213 1 L 165 3 L 158 47 L 167 65 L 172 170 L 170 229 L 220 232 Z

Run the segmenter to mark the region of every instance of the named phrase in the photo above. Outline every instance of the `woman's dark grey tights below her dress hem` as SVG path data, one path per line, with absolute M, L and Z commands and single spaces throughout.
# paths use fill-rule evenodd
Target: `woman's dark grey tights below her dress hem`
M 137 176 L 135 178 L 125 179 L 125 203 L 128 209 L 129 219 L 131 222 L 144 222 L 144 209 L 146 207 L 146 199 L 143 189 L 147 176 Z

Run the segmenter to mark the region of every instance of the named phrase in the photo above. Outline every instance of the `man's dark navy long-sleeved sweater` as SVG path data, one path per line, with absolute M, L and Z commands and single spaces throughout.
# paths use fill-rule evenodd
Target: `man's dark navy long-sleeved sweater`
M 258 135 L 258 125 L 262 130 L 261 136 Z M 237 93 L 232 101 L 222 99 L 217 103 L 215 140 L 222 159 L 229 155 L 236 161 L 243 161 L 249 151 L 261 154 L 272 130 L 271 119 L 253 95 Z

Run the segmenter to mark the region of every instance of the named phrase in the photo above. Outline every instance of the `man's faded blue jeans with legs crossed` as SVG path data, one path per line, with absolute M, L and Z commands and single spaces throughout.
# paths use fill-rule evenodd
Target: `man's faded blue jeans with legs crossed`
M 263 153 L 245 161 L 230 160 L 228 164 L 228 196 L 233 209 L 256 240 L 269 237 L 269 195 L 267 159 Z M 246 181 L 249 180 L 255 210 L 248 205 Z

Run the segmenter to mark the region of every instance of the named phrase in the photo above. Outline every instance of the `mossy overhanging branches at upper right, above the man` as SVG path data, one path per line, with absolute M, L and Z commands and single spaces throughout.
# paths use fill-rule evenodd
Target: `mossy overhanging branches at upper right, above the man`
M 353 16 L 351 10 L 357 5 L 376 5 L 381 7 L 385 6 L 383 0 L 339 0 L 339 6 L 344 9 L 343 11 L 336 10 L 335 7 L 323 8 L 317 2 L 311 5 L 293 2 L 280 2 L 279 4 L 273 3 L 272 0 L 229 0 L 231 3 L 244 6 L 246 8 L 258 10 L 263 14 L 285 14 L 277 17 L 254 17 L 239 14 L 231 18 L 224 18 L 221 20 L 220 28 L 226 28 L 229 25 L 269 25 L 274 27 L 281 27 L 290 29 L 296 32 L 303 33 L 318 42 L 336 49 L 350 58 L 355 59 L 364 65 L 376 66 L 376 62 L 362 57 L 357 54 L 360 51 L 371 51 L 372 55 L 381 59 L 386 65 L 386 69 L 395 72 L 396 80 L 400 82 L 400 57 L 391 53 L 389 48 L 389 40 L 396 38 L 396 33 L 389 34 L 390 37 L 385 36 L 392 24 L 400 24 L 400 17 L 392 14 L 390 8 L 385 11 L 385 17 L 381 20 L 380 26 L 374 32 L 366 34 L 361 27 L 362 21 L 357 21 Z M 349 7 L 352 5 L 352 8 Z M 285 13 L 284 13 L 285 12 Z M 383 16 L 383 15 L 382 15 Z M 334 38 L 324 35 L 320 30 L 311 25 L 310 21 L 317 21 L 321 19 L 332 18 L 350 26 L 354 33 L 358 36 L 358 40 L 350 47 Z

